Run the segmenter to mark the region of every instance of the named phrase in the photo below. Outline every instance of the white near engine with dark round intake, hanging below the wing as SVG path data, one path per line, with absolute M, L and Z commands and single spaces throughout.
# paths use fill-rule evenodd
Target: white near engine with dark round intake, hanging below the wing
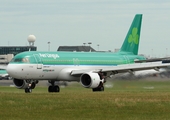
M 86 88 L 97 88 L 103 81 L 104 79 L 101 79 L 98 73 L 88 72 L 80 77 L 81 84 Z

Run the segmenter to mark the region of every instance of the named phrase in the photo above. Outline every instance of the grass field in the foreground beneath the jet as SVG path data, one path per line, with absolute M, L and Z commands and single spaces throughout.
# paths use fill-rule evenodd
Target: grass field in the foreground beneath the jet
M 170 118 L 170 81 L 108 82 L 104 92 L 74 84 L 48 93 L 37 87 L 31 94 L 0 87 L 2 120 L 167 120 Z M 113 87 L 112 87 L 113 86 Z

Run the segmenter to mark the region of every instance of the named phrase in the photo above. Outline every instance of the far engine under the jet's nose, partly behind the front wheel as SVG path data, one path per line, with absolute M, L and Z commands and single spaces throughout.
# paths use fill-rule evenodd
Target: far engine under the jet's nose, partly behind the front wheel
M 25 80 L 20 79 L 13 79 L 13 83 L 18 89 L 25 89 L 29 87 L 29 83 L 27 83 Z

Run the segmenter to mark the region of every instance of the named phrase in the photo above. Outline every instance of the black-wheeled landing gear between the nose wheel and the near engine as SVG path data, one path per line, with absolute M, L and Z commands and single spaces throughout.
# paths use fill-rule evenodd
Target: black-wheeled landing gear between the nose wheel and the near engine
M 55 85 L 55 81 L 48 81 L 51 85 L 48 87 L 48 92 L 60 92 L 60 87 Z

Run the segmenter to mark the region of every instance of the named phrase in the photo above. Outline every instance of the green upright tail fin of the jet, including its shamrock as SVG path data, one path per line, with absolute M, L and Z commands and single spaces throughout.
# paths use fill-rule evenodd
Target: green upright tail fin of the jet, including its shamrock
M 121 52 L 132 52 L 135 55 L 138 54 L 141 23 L 142 14 L 136 14 L 120 49 Z

